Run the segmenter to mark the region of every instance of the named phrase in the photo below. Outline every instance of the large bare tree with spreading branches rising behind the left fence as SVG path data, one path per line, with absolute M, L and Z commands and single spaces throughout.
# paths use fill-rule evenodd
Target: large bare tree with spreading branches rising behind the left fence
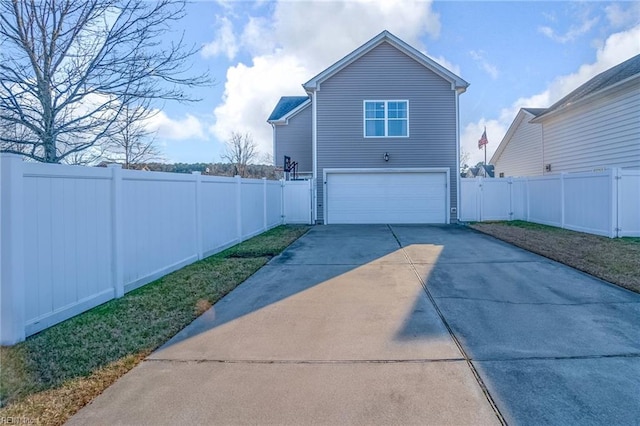
M 182 0 L 0 0 L 0 150 L 57 163 L 117 132 L 139 101 L 194 101 L 197 50 L 162 42 Z

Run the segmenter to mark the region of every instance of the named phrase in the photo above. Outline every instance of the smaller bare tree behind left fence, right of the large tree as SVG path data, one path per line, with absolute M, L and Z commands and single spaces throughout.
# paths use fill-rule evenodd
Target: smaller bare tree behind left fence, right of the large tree
M 125 107 L 115 132 L 104 144 L 102 158 L 130 169 L 136 164 L 158 161 L 161 153 L 155 145 L 155 135 L 147 130 L 144 121 L 153 116 L 151 109 L 141 106 Z

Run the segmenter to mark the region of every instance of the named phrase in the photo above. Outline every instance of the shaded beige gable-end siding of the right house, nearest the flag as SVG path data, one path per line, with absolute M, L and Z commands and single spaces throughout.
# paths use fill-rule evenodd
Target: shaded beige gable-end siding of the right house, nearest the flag
M 532 115 L 525 114 L 500 157 L 495 162 L 495 176 L 540 176 L 542 162 L 542 125 L 529 123 Z

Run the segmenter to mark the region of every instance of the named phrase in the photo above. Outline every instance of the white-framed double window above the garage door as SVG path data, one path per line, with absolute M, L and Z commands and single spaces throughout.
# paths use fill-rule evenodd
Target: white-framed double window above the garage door
M 409 101 L 364 101 L 364 136 L 409 136 Z

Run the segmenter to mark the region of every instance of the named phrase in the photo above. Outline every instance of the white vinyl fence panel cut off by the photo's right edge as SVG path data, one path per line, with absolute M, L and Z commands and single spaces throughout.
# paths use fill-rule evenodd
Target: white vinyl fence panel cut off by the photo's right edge
M 640 237 L 640 170 L 620 170 L 619 176 L 619 236 Z

